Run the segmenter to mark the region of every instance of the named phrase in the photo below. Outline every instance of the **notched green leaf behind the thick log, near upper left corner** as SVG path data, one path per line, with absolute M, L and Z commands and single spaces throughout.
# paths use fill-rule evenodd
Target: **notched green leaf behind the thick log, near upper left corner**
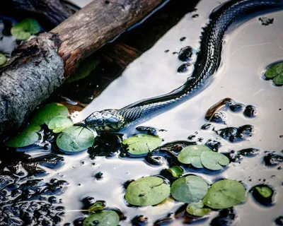
M 31 35 L 38 32 L 40 32 L 40 25 L 37 20 L 31 18 L 26 18 L 11 28 L 11 34 L 17 40 L 27 40 Z

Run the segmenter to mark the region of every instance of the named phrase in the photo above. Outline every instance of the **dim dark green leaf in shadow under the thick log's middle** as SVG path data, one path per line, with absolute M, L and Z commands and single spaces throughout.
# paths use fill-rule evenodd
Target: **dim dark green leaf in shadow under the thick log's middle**
M 67 83 L 81 80 L 89 76 L 91 71 L 96 69 L 96 66 L 99 64 L 99 59 L 93 58 L 93 56 L 88 57 L 87 59 L 80 62 L 79 67 L 76 69 L 74 74 L 72 74 L 68 79 Z

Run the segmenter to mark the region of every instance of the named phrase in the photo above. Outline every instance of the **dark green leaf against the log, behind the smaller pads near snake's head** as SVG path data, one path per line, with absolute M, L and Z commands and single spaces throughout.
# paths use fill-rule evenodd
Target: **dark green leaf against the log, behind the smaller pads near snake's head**
M 65 117 L 67 118 L 69 115 L 67 107 L 61 105 L 59 103 L 50 103 L 40 109 L 37 109 L 35 114 L 33 114 L 33 118 L 31 119 L 32 124 L 42 125 L 49 124 L 50 121 L 57 117 Z

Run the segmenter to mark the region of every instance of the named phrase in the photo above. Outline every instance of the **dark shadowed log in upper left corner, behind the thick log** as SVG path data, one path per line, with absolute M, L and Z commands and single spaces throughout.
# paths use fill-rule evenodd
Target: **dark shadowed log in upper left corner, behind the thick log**
M 47 28 L 54 28 L 72 14 L 59 0 L 5 0 L 0 13 L 16 18 L 37 18 Z

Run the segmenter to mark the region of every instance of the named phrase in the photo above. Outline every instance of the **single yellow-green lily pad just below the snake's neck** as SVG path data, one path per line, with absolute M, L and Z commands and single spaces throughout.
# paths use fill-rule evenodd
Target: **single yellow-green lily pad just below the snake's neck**
M 125 139 L 122 144 L 127 145 L 127 152 L 132 155 L 145 155 L 157 148 L 162 142 L 158 136 L 137 134 Z

